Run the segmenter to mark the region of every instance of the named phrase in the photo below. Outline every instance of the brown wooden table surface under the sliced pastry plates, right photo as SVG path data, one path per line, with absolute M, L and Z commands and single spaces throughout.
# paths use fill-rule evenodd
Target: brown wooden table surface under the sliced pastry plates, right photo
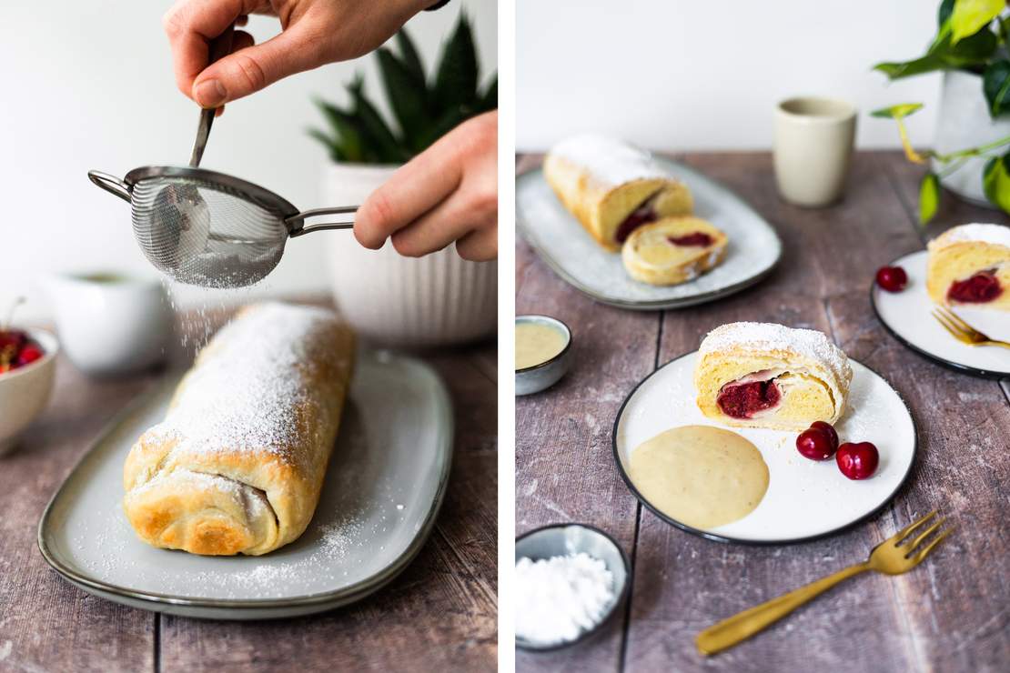
M 897 152 L 861 152 L 844 200 L 803 210 L 776 193 L 771 155 L 676 156 L 734 190 L 778 230 L 781 264 L 754 288 L 701 307 L 633 313 L 566 285 L 521 240 L 516 313 L 544 313 L 575 334 L 572 371 L 516 398 L 516 532 L 556 522 L 608 531 L 634 563 L 624 613 L 599 638 L 557 653 L 518 652 L 521 671 L 1010 670 L 1010 383 L 945 369 L 906 349 L 874 316 L 876 269 L 940 231 L 1001 214 L 944 194 L 927 228 L 914 213 L 920 170 Z M 518 172 L 539 163 L 521 156 Z M 893 502 L 854 529 L 779 547 L 709 542 L 643 509 L 611 457 L 617 410 L 660 364 L 737 320 L 820 329 L 883 374 L 919 430 L 912 474 Z M 866 559 L 879 541 L 939 508 L 956 534 L 905 575 L 866 574 L 721 655 L 694 647 L 702 629 Z

